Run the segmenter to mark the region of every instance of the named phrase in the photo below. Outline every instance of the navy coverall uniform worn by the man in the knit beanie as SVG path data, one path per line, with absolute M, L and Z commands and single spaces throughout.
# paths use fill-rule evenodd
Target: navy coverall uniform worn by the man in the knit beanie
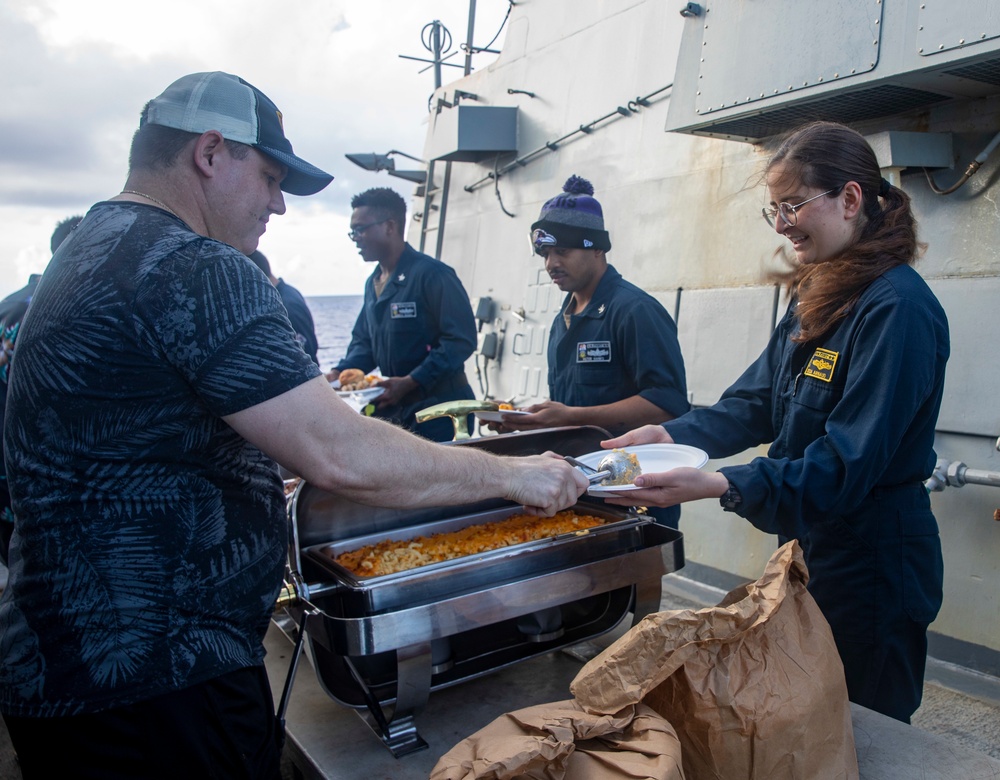
M 640 395 L 674 417 L 689 408 L 677 326 L 653 296 L 609 265 L 582 312 L 563 312 L 549 336 L 549 397 L 567 406 L 602 406 Z M 611 431 L 613 435 L 624 433 Z M 651 508 L 658 522 L 677 527 L 680 507 Z

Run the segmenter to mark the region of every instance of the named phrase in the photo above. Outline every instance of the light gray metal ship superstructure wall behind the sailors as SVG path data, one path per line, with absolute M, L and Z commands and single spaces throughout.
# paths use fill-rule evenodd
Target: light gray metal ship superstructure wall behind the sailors
M 609 260 L 678 324 L 692 404 L 752 362 L 784 311 L 764 281 L 784 243 L 761 220 L 769 144 L 814 118 L 864 133 L 913 198 L 917 269 L 952 334 L 929 486 L 945 551 L 931 654 L 1000 673 L 1000 14 L 989 0 L 548 0 L 512 6 L 490 66 L 437 90 L 411 226 L 481 318 L 483 396 L 546 396 L 563 294 L 527 240 L 571 174 L 604 206 Z M 750 451 L 706 468 L 745 462 Z M 716 502 L 683 509 L 688 570 L 758 576 L 775 547 Z

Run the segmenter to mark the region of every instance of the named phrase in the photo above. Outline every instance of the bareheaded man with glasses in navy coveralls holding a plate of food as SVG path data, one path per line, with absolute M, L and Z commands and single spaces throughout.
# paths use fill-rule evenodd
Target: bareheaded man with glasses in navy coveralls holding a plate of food
M 418 424 L 416 412 L 444 401 L 473 399 L 465 361 L 476 347 L 476 326 L 455 271 L 403 241 L 403 199 L 375 188 L 352 201 L 351 237 L 361 256 L 377 261 L 365 282 L 365 299 L 351 343 L 334 371 L 365 373 L 376 367 L 386 380 L 385 394 L 374 400 L 375 416 L 395 422 L 433 441 L 450 441 L 450 418 Z

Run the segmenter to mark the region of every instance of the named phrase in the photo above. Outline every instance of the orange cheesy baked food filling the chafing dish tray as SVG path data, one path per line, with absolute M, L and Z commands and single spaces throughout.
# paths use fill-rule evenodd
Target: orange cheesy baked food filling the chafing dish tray
M 588 528 L 604 525 L 605 522 L 600 517 L 578 515 L 571 510 L 559 512 L 552 517 L 516 514 L 505 520 L 480 523 L 432 536 L 418 536 L 402 541 L 385 539 L 341 553 L 334 560 L 357 576 L 377 577 L 498 550 L 512 544 L 533 542 L 573 531 L 586 531 Z

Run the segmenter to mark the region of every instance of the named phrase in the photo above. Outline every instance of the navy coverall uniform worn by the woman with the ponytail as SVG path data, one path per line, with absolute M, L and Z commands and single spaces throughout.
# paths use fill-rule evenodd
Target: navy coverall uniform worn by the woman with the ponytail
M 799 540 L 851 701 L 909 722 L 942 599 L 922 483 L 936 458 L 948 322 L 909 266 L 872 282 L 817 342 L 790 340 L 793 309 L 717 404 L 664 427 L 713 458 L 772 442 L 768 457 L 720 469 L 742 495 L 735 511 Z

